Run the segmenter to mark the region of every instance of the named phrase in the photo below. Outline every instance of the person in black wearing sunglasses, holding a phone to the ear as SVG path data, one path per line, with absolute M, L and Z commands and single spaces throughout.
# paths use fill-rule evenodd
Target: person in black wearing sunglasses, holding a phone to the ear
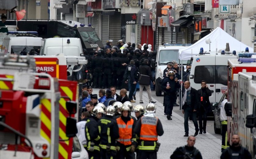
M 201 89 L 197 90 L 200 105 L 198 109 L 199 115 L 199 133 L 202 134 L 203 131 L 206 133 L 206 122 L 207 122 L 207 113 L 211 112 L 211 104 L 209 96 L 211 96 L 211 90 L 208 88 L 206 81 L 201 81 Z M 202 119 L 204 122 L 202 123 Z

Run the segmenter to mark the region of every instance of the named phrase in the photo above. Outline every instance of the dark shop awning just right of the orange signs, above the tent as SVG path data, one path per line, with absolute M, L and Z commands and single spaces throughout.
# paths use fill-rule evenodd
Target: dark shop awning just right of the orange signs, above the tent
M 184 15 L 171 23 L 173 32 L 180 32 L 180 27 L 188 27 L 193 24 L 192 15 Z M 174 29 L 175 28 L 175 29 Z

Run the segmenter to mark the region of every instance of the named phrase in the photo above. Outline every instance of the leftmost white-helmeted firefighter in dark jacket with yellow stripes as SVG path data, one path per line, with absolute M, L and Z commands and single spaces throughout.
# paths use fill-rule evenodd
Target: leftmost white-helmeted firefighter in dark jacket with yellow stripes
M 99 129 L 97 115 L 104 113 L 101 107 L 95 107 L 92 110 L 91 116 L 86 121 L 85 138 L 87 142 L 87 152 L 90 159 L 100 159 L 99 155 Z

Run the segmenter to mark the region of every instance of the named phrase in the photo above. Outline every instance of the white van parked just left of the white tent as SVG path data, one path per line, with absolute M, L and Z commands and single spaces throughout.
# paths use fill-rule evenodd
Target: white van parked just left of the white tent
M 173 60 L 179 62 L 179 50 L 184 49 L 191 44 L 164 44 L 159 46 L 157 51 L 157 59 L 156 59 L 156 95 L 162 95 L 161 84 L 163 80 L 163 72 L 167 67 L 167 62 L 171 62 Z M 189 60 L 190 61 L 190 60 Z M 186 65 L 187 61 L 183 61 L 183 64 Z

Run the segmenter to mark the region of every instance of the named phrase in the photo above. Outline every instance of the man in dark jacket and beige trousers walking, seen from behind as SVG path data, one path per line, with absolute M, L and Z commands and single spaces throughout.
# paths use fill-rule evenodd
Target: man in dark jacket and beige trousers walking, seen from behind
M 153 81 L 153 78 L 152 78 L 152 74 L 151 74 L 151 69 L 150 67 L 148 66 L 148 59 L 145 59 L 142 63 L 142 65 L 139 66 L 139 74 L 143 74 L 143 75 L 146 75 L 146 76 L 149 76 L 150 77 L 150 80 L 153 82 L 153 85 L 155 85 L 155 82 Z M 150 82 L 149 82 L 149 85 L 139 85 L 139 103 L 143 103 L 143 100 L 142 100 L 142 91 L 143 91 L 143 88 L 146 88 L 147 92 L 148 92 L 148 98 L 149 98 L 149 102 L 151 103 L 156 103 L 152 100 L 151 98 L 151 89 L 150 89 Z

